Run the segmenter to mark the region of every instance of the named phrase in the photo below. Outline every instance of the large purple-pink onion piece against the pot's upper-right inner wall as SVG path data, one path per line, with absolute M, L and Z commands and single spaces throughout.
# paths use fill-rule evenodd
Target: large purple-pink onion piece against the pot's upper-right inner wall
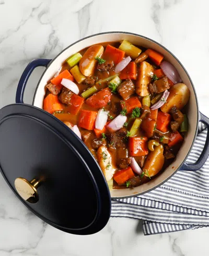
M 160 64 L 160 68 L 173 83 L 177 84 L 182 82 L 179 72 L 177 71 L 175 66 L 170 64 L 168 61 L 162 61 L 162 63 Z

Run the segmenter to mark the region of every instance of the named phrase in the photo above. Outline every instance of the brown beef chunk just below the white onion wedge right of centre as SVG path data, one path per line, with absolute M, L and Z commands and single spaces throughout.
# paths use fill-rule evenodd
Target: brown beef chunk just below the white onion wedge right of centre
M 115 148 L 125 148 L 125 143 L 123 142 L 123 139 L 125 138 L 126 134 L 127 131 L 125 128 L 121 128 L 117 132 L 107 133 L 106 136 L 108 139 L 108 143 Z

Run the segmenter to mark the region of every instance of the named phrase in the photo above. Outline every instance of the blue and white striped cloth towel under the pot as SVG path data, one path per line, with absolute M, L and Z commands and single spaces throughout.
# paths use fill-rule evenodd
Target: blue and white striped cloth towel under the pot
M 200 123 L 188 163 L 198 160 L 206 133 Z M 209 226 L 209 158 L 199 171 L 178 171 L 144 195 L 114 199 L 111 217 L 142 219 L 144 235 Z

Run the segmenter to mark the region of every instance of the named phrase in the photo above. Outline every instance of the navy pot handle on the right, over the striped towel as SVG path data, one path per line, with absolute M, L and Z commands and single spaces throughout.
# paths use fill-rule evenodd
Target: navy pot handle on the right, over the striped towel
M 198 171 L 200 168 L 202 168 L 203 164 L 208 158 L 209 155 L 209 118 L 203 115 L 200 112 L 200 122 L 203 123 L 207 127 L 207 137 L 205 140 L 205 145 L 203 148 L 203 151 L 200 155 L 200 158 L 198 161 L 192 164 L 183 163 L 183 165 L 180 167 L 179 170 L 181 171 Z

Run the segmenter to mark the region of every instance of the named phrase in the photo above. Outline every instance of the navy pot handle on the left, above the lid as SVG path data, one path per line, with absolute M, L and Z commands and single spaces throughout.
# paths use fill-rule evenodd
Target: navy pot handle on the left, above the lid
M 24 91 L 25 91 L 28 79 L 29 79 L 31 73 L 33 72 L 33 70 L 36 69 L 37 66 L 45 66 L 45 68 L 47 68 L 50 61 L 51 60 L 48 60 L 48 59 L 35 59 L 35 60 L 32 60 L 26 66 L 26 69 L 22 73 L 19 83 L 18 83 L 18 86 L 17 86 L 16 103 L 24 103 L 23 102 Z

